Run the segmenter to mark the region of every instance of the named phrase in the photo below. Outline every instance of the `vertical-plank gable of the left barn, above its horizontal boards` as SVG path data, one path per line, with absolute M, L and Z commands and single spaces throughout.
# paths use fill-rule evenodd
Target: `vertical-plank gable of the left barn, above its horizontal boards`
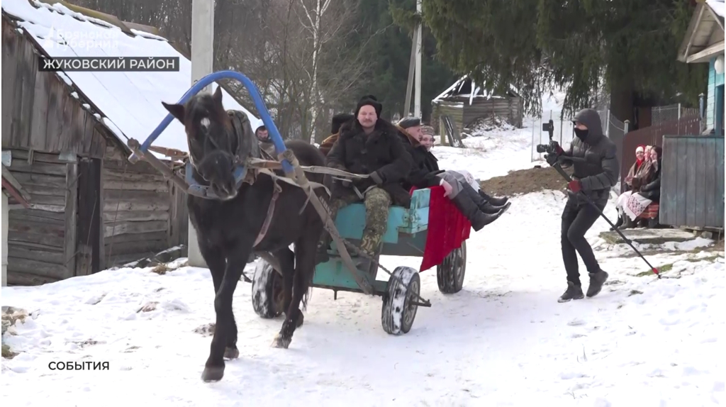
M 56 73 L 38 71 L 28 34 L 2 18 L 2 147 L 102 157 L 97 118 Z

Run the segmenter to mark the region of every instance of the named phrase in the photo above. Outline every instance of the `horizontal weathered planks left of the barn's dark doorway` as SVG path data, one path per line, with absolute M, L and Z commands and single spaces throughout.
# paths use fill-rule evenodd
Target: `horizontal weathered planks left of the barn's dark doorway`
M 28 163 L 28 151 L 11 151 L 8 169 L 35 207 L 9 211 L 8 284 L 67 279 L 76 268 L 77 164 L 38 152 Z

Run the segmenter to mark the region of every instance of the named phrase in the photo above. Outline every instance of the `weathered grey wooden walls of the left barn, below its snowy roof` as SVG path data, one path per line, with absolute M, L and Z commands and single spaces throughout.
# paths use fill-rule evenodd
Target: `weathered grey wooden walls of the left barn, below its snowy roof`
M 47 54 L 5 10 L 2 53 L 3 163 L 30 196 L 29 208 L 9 198 L 8 284 L 92 274 L 186 244 L 185 193 L 147 163 L 131 165 L 104 112 L 67 76 L 38 71 Z

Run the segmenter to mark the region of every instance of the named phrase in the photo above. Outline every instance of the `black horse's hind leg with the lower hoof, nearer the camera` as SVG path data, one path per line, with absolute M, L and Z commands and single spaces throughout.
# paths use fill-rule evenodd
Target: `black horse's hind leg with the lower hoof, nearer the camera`
M 280 333 L 275 336 L 274 345 L 277 348 L 287 349 L 290 342 L 293 341 L 293 333 L 298 324 L 298 314 L 300 311 L 300 302 L 303 295 L 307 292 L 312 281 L 315 270 L 315 253 L 317 248 L 317 239 L 319 234 L 311 238 L 309 234 L 303 234 L 297 242 L 295 242 L 295 275 L 293 276 L 293 300 L 287 307 L 285 313 L 285 321 L 282 322 Z

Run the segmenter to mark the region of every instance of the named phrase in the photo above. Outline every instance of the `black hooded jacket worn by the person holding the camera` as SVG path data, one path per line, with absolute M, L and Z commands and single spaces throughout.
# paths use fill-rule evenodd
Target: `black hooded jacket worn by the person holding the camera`
M 603 135 L 600 115 L 592 109 L 584 109 L 575 115 L 575 120 L 587 126 L 584 139 L 574 137 L 568 151 L 562 155 L 563 167 L 572 166 L 572 178 L 582 184 L 582 192 L 597 205 L 603 207 L 608 202 L 610 189 L 617 183 L 620 165 L 613 141 Z M 584 162 L 567 160 L 567 157 L 584 158 Z M 580 194 L 568 191 L 568 200 L 579 205 L 587 205 Z

